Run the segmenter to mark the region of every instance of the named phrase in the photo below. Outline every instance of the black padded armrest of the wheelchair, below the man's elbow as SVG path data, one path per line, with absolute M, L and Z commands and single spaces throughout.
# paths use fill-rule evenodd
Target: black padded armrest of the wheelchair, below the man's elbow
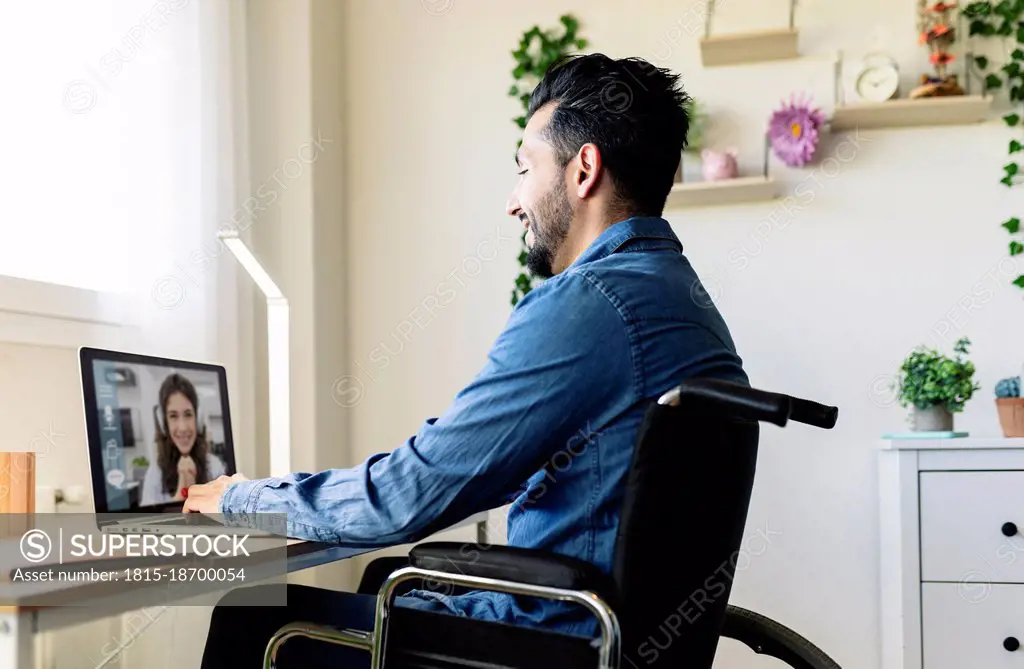
M 563 590 L 590 590 L 605 601 L 614 601 L 612 580 L 582 559 L 515 546 L 481 546 L 436 541 L 409 552 L 413 567 L 434 572 L 514 581 Z

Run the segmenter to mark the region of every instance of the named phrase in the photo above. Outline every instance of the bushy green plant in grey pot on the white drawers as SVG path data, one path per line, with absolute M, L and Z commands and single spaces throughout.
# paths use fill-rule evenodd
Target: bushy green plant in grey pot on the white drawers
M 965 360 L 971 340 L 962 337 L 949 358 L 919 346 L 900 366 L 898 378 L 901 407 L 913 407 L 910 415 L 915 432 L 951 431 L 953 414 L 981 386 L 974 379 L 974 363 Z

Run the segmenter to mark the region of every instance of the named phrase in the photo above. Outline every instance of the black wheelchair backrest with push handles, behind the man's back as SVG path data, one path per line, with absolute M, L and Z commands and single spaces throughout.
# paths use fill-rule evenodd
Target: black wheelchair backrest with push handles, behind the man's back
M 648 409 L 628 475 L 613 573 L 630 667 L 710 669 L 737 565 L 759 422 L 831 427 L 837 410 L 712 379 Z

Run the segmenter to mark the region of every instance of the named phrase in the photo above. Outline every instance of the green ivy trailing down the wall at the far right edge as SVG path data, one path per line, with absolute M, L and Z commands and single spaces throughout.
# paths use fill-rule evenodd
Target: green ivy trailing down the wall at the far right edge
M 1007 48 L 1006 62 L 994 64 L 983 55 L 975 56 L 974 65 L 982 72 L 988 72 L 985 77 L 985 90 L 1005 89 L 1010 96 L 1011 111 L 1002 117 L 1011 128 L 1021 128 L 1024 135 L 1024 0 L 1001 0 L 1000 2 L 971 2 L 964 8 L 964 15 L 971 22 L 971 36 L 1012 40 Z M 1024 137 L 1022 137 L 1024 138 Z M 1021 162 L 1024 156 L 1018 156 L 1024 151 L 1024 141 L 1013 138 L 1007 149 L 1009 162 L 1002 166 L 1002 178 L 999 182 L 1007 187 L 1021 183 L 1024 176 Z M 1002 221 L 1002 227 L 1012 236 L 1010 255 L 1024 253 L 1024 244 L 1016 236 L 1020 235 L 1020 216 L 1012 216 Z M 1014 280 L 1014 285 L 1024 288 L 1024 275 Z

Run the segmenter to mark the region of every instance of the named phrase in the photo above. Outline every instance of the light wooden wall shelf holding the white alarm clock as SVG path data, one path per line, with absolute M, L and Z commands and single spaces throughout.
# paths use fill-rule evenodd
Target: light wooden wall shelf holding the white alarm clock
M 833 113 L 834 131 L 855 128 L 900 128 L 980 123 L 988 117 L 991 97 L 953 95 L 842 104 Z

